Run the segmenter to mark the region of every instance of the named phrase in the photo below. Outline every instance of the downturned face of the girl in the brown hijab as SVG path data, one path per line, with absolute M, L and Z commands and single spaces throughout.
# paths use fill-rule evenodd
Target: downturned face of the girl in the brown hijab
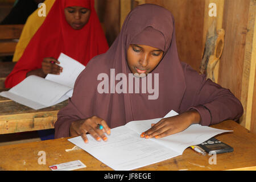
M 133 74 L 147 75 L 156 68 L 162 57 L 163 51 L 158 48 L 131 44 L 127 51 L 127 64 Z

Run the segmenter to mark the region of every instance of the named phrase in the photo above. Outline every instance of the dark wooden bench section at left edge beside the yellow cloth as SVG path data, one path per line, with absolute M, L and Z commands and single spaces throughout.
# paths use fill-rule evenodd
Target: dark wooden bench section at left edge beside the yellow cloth
M 14 54 L 23 26 L 23 24 L 0 25 L 0 56 Z

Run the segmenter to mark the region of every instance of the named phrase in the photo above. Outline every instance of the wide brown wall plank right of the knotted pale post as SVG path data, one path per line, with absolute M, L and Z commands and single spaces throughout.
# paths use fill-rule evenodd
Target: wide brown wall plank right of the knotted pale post
M 241 98 L 243 59 L 250 0 L 225 0 L 223 28 L 225 44 L 220 59 L 218 84 Z

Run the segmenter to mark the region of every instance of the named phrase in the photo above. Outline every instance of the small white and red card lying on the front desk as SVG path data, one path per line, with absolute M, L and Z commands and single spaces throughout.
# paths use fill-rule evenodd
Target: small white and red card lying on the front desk
M 84 163 L 80 160 L 74 160 L 67 163 L 55 164 L 53 166 L 49 166 L 52 171 L 71 171 L 75 169 L 80 169 L 86 167 Z

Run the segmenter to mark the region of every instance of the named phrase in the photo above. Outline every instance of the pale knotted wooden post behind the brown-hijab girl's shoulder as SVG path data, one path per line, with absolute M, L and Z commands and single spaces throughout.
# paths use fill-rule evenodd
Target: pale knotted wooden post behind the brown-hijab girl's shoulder
M 215 12 L 214 12 L 215 11 Z M 224 0 L 205 0 L 203 50 L 200 72 L 218 82 L 219 59 L 224 46 Z

